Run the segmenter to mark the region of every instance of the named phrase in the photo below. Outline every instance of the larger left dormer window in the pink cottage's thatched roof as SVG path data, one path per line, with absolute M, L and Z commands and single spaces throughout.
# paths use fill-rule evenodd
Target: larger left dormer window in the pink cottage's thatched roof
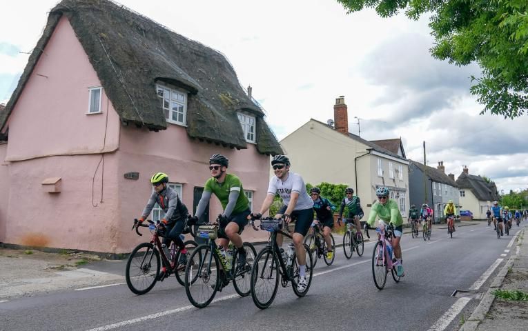
M 159 84 L 156 86 L 156 92 L 162 101 L 165 119 L 169 123 L 185 126 L 187 123 L 187 93 Z

